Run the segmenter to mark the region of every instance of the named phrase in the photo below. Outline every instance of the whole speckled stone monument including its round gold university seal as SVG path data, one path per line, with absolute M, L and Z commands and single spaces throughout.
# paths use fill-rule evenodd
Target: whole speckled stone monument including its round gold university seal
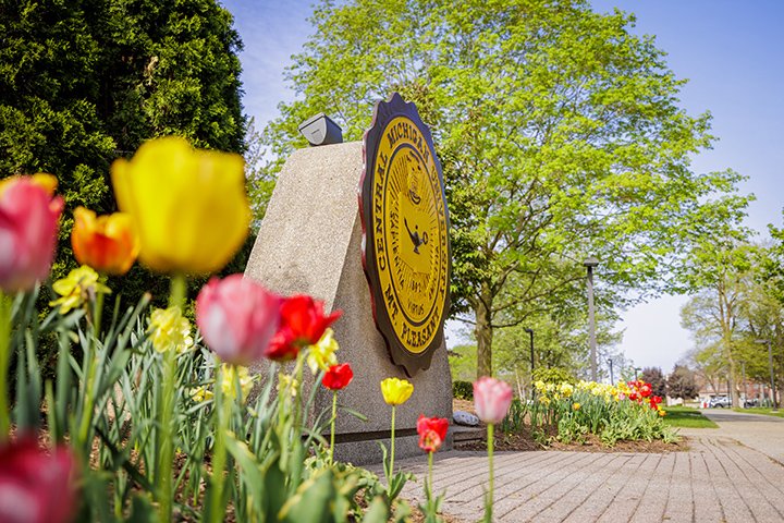
M 440 166 L 413 104 L 394 95 L 377 106 L 373 122 L 363 142 L 299 149 L 287 159 L 245 270 L 279 294 L 310 294 L 324 311 L 343 311 L 333 325 L 336 355 L 352 365 L 354 380 L 338 402 L 367 421 L 339 414 L 335 457 L 356 464 L 381 461 L 377 441 L 389 447 L 384 378 L 414 385 L 396 410 L 397 457 L 421 453 L 420 414 L 452 418 Z M 311 377 L 304 386 L 318 387 L 310 415 L 329 412 L 331 391 Z

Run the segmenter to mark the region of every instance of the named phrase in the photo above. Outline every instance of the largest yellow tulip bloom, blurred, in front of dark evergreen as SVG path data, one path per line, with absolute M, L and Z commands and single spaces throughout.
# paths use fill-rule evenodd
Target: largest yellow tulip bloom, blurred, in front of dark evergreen
M 111 167 L 118 206 L 131 215 L 139 259 L 160 272 L 220 270 L 248 233 L 240 155 L 193 149 L 184 138 L 146 142 Z

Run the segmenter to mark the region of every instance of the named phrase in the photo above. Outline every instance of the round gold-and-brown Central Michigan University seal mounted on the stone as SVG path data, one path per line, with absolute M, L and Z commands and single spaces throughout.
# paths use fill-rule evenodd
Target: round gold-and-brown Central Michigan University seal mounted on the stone
M 443 344 L 451 272 L 449 211 L 430 130 L 394 94 L 376 106 L 359 182 L 363 266 L 373 317 L 406 374 Z

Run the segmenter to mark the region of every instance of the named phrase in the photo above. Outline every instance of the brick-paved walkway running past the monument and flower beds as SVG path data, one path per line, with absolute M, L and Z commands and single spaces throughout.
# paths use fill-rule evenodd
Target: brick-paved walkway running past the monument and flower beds
M 721 428 L 682 430 L 690 446 L 684 452 L 499 452 L 495 521 L 784 521 L 784 465 L 776 461 L 784 457 L 782 421 L 732 412 L 709 416 Z M 399 463 L 419 478 L 427 475 L 424 458 Z M 437 454 L 433 482 L 437 492 L 446 490 L 444 513 L 461 522 L 481 520 L 483 453 Z M 407 484 L 403 496 L 419 502 L 421 483 Z

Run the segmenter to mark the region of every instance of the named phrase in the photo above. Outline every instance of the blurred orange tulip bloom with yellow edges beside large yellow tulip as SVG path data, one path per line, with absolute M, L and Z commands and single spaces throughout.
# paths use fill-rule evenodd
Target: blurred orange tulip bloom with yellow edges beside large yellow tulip
M 136 260 L 138 236 L 131 217 L 124 212 L 98 216 L 84 207 L 74 211 L 71 245 L 76 260 L 99 272 L 124 275 Z

